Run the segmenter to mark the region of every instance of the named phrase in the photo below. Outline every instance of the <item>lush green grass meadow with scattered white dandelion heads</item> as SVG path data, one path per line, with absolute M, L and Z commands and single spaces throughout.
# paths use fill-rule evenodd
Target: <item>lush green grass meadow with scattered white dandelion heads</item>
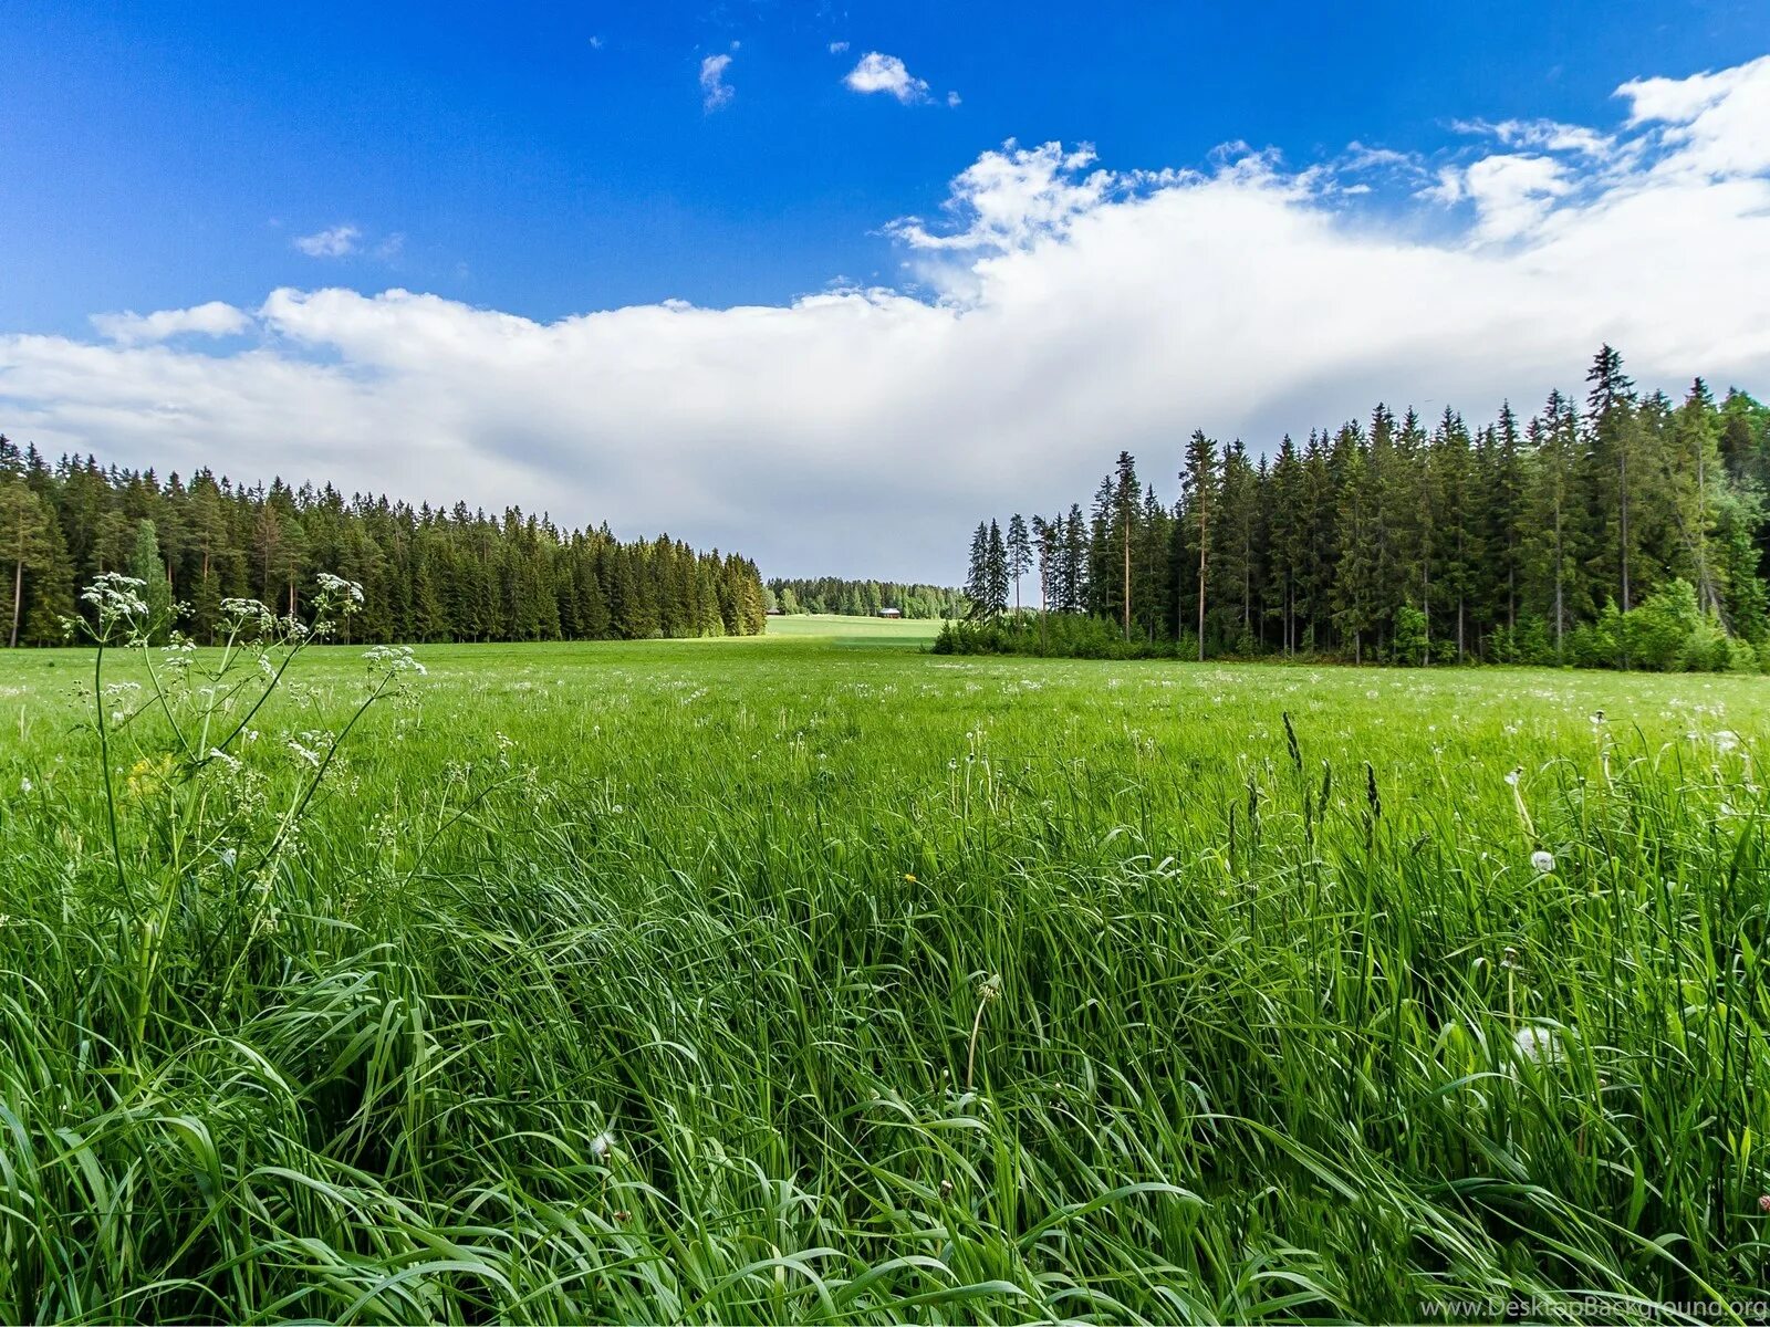
M 931 628 L 0 655 L 0 1320 L 1763 1311 L 1763 681 Z

